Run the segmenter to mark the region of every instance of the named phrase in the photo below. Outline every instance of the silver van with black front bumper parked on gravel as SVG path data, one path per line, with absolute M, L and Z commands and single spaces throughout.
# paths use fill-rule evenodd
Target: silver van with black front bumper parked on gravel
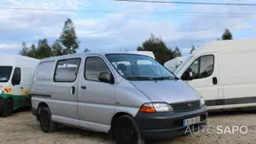
M 207 118 L 196 90 L 153 58 L 130 52 L 43 59 L 33 80 L 32 113 L 44 133 L 71 125 L 110 133 L 118 144 L 187 135 Z

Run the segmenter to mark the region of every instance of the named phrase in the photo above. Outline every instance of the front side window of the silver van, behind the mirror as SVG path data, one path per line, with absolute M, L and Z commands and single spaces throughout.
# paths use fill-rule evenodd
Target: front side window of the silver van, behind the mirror
M 84 70 L 84 78 L 86 80 L 99 81 L 98 76 L 101 72 L 108 72 L 111 75 L 107 65 L 100 57 L 86 58 Z

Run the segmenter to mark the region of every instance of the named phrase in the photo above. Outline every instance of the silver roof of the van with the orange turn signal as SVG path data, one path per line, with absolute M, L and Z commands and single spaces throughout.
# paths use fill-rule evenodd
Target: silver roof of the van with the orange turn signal
M 141 53 L 141 52 L 137 52 L 137 51 L 104 51 L 104 52 L 75 53 L 75 54 L 58 56 L 58 57 L 44 58 L 42 60 L 43 61 L 50 61 L 50 60 L 55 60 L 55 59 L 58 59 L 58 58 L 65 59 L 65 58 L 70 58 L 70 57 L 82 57 L 82 56 L 88 56 L 88 55 L 105 56 L 107 54 L 136 54 L 136 55 L 148 56 L 145 53 Z M 149 57 L 151 57 L 151 56 L 149 56 Z

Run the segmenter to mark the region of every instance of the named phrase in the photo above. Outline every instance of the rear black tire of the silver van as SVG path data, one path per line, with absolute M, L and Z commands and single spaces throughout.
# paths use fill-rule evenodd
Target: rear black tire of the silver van
M 49 108 L 40 109 L 39 122 L 40 122 L 41 130 L 44 133 L 53 133 L 57 129 L 57 124 L 51 121 L 51 112 Z

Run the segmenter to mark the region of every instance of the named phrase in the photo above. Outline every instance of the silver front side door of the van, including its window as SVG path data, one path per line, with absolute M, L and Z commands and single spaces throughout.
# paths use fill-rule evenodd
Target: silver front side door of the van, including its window
M 98 76 L 101 72 L 112 75 L 111 69 L 104 58 L 98 56 L 86 57 L 82 68 L 78 90 L 79 119 L 86 121 L 89 129 L 105 132 L 115 110 L 115 84 L 102 82 Z

